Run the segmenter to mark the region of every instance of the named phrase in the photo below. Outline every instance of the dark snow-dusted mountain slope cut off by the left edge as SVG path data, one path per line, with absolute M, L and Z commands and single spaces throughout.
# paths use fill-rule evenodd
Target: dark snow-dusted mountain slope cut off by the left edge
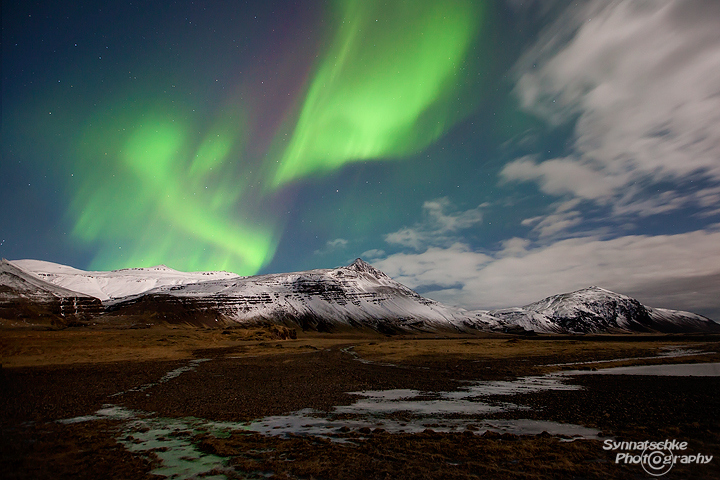
M 0 318 L 68 325 L 102 312 L 97 298 L 52 285 L 5 259 L 0 261 Z

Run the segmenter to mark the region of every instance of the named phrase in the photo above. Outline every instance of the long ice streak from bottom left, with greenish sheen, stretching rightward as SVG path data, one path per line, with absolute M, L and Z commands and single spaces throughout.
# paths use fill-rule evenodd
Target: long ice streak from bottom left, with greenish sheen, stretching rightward
M 472 431 L 482 435 L 487 431 L 515 435 L 538 435 L 547 432 L 564 441 L 598 439 L 599 432 L 580 425 L 539 420 L 475 420 L 443 417 L 421 417 L 407 420 L 358 417 L 338 419 L 311 409 L 290 415 L 265 417 L 254 422 L 213 422 L 199 418 L 161 418 L 135 412 L 123 407 L 105 405 L 94 415 L 60 420 L 73 424 L 92 420 L 121 420 L 124 423 L 117 441 L 129 451 L 154 456 L 160 466 L 151 473 L 181 480 L 191 478 L 225 479 L 226 473 L 237 472 L 227 466 L 227 458 L 200 451 L 193 443 L 199 434 L 222 438 L 232 432 L 255 432 L 269 436 L 307 435 L 330 439 L 337 443 L 362 441 L 372 431 L 388 433 L 420 433 Z M 238 452 L 241 453 L 241 452 Z

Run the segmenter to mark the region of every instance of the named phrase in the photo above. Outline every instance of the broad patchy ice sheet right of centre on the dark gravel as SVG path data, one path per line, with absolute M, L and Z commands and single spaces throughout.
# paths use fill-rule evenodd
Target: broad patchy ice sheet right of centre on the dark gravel
M 567 377 L 523 377 L 507 382 L 474 382 L 452 392 L 419 390 L 367 390 L 350 392 L 362 397 L 351 405 L 337 406 L 330 414 L 301 410 L 291 415 L 267 417 L 248 424 L 247 429 L 266 435 L 314 435 L 333 441 L 347 441 L 341 436 L 349 431 L 365 432 L 379 428 L 389 433 L 419 433 L 487 430 L 517 435 L 536 435 L 547 431 L 568 438 L 598 438 L 597 430 L 578 425 L 534 420 L 478 420 L 494 413 L 527 410 L 528 407 L 498 401 L 497 396 L 542 390 L 577 390 L 565 384 Z M 493 397 L 493 398 L 489 398 Z M 342 416 L 342 418 L 339 418 Z M 448 417 L 453 418 L 448 418 Z M 398 419 L 398 417 L 400 419 Z M 464 417 L 464 418 L 458 418 Z M 472 426 L 471 428 L 468 428 Z

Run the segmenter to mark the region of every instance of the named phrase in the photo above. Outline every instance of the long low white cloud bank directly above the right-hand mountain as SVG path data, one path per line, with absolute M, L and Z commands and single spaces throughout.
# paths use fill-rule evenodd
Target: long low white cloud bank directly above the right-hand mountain
M 535 248 L 514 238 L 492 256 L 456 243 L 390 255 L 374 265 L 430 298 L 470 309 L 519 306 L 599 285 L 650 306 L 720 320 L 719 231 L 571 238 Z M 661 295 L 669 291 L 674 294 Z

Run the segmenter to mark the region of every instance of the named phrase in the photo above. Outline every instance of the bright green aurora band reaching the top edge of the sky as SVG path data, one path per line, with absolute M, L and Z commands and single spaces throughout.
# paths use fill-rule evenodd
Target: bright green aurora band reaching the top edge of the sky
M 477 35 L 469 1 L 341 2 L 272 185 L 359 160 L 416 153 L 457 118 L 453 88 Z

